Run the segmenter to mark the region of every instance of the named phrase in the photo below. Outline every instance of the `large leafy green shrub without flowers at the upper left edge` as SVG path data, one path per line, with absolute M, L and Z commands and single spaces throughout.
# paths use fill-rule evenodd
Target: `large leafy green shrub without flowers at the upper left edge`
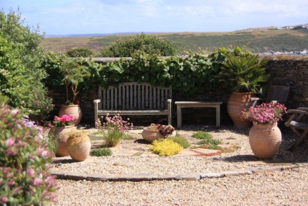
M 36 122 L 43 121 L 53 109 L 42 83 L 48 74 L 39 68 L 43 37 L 23 26 L 19 12 L 0 11 L 0 25 L 0 91 L 10 98 L 10 106 Z

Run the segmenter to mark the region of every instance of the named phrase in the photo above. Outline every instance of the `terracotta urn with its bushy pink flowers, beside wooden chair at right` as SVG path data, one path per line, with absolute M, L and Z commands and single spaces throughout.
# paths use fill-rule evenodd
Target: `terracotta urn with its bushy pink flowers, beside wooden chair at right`
M 249 145 L 257 158 L 273 158 L 281 143 L 277 122 L 287 113 L 285 105 L 263 103 L 242 112 L 242 118 L 252 121 L 249 130 Z

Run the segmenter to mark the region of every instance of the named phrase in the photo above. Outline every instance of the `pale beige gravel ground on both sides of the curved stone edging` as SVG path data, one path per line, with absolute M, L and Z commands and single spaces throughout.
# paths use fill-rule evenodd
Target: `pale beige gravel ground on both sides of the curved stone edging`
M 185 174 L 223 172 L 270 165 L 250 165 L 254 161 L 248 143 L 249 130 L 233 127 L 194 126 L 185 130 L 220 132 L 240 140 L 240 149 L 220 156 L 96 157 L 93 163 L 57 165 L 57 169 L 86 174 Z M 291 132 L 283 134 L 277 159 L 308 162 L 308 150 L 300 145 L 287 151 L 294 141 Z M 256 159 L 255 159 L 256 160 Z M 125 166 L 114 166 L 124 163 Z M 56 169 L 56 168 L 55 168 Z M 200 181 L 100 182 L 59 180 L 59 197 L 50 205 L 307 205 L 308 169 L 300 167 L 283 172 L 251 174 Z

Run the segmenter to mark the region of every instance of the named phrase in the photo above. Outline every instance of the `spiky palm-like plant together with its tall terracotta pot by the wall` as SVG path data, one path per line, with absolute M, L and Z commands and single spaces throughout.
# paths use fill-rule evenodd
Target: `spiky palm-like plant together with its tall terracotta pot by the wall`
M 232 92 L 227 102 L 227 112 L 235 127 L 250 127 L 249 121 L 240 118 L 240 112 L 249 109 L 253 104 L 251 97 L 256 97 L 260 93 L 261 83 L 268 81 L 269 74 L 264 68 L 267 61 L 239 47 L 220 52 L 224 54 L 225 62 L 218 79 L 223 87 Z

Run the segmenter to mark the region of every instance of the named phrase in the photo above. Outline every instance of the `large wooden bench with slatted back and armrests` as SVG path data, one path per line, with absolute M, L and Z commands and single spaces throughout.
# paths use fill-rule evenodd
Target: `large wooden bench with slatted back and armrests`
M 99 86 L 99 99 L 94 100 L 94 121 L 99 116 L 122 115 L 167 115 L 171 125 L 172 86 L 154 87 L 150 83 L 127 82 L 119 87 Z

